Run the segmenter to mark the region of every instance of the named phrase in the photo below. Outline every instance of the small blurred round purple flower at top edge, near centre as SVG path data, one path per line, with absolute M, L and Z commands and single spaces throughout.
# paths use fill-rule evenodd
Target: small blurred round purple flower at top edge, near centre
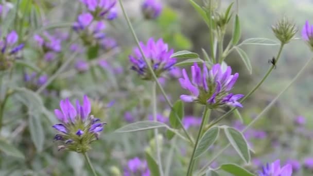
M 158 0 L 145 0 L 142 4 L 142 12 L 146 19 L 156 19 L 161 11 L 162 4 Z

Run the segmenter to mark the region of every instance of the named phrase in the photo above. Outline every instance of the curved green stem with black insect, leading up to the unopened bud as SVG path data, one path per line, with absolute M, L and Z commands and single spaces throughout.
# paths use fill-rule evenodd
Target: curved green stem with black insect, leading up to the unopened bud
M 283 50 L 284 45 L 285 45 L 284 43 L 281 44 L 281 47 L 280 47 L 280 49 L 279 49 L 279 52 L 278 52 L 278 54 L 277 54 L 277 56 L 276 56 L 276 63 L 277 63 L 277 61 L 278 61 L 278 60 L 280 59 L 280 57 L 281 57 L 281 53 L 282 53 L 282 50 Z M 266 73 L 266 75 L 263 77 L 263 79 L 262 79 L 258 84 L 256 84 L 255 87 L 254 87 L 244 98 L 242 98 L 242 99 L 240 100 L 240 103 L 244 102 L 247 98 L 250 97 L 250 95 L 252 95 L 252 94 L 258 89 L 258 87 L 267 79 L 267 77 L 268 77 L 268 76 L 270 75 L 270 73 L 273 71 L 274 67 L 275 67 L 275 65 L 272 65 L 272 66 L 269 68 L 269 70 L 267 71 L 267 73 Z M 216 124 L 217 124 L 218 122 L 220 122 L 224 117 L 230 115 L 235 109 L 236 109 L 236 108 L 232 108 L 232 109 L 231 109 L 230 111 L 228 111 L 226 114 L 224 114 L 224 115 L 220 116 L 218 119 L 214 120 L 214 121 L 208 126 L 208 128 L 210 128 L 210 127 L 216 125 Z

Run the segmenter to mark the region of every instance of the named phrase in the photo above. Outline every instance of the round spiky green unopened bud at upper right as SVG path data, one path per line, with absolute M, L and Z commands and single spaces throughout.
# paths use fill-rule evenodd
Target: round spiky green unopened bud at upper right
M 283 19 L 273 25 L 272 30 L 276 38 L 284 44 L 288 43 L 298 31 L 295 24 L 290 22 L 286 17 L 283 17 Z

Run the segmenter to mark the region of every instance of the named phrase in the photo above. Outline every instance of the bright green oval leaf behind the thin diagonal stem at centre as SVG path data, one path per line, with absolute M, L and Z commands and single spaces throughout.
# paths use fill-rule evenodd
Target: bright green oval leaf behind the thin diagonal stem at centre
M 184 116 L 184 103 L 182 100 L 177 100 L 173 104 L 173 109 L 169 114 L 169 124 L 171 125 L 172 128 L 178 129 L 181 126 L 176 115 L 179 117 L 180 120 L 182 120 Z

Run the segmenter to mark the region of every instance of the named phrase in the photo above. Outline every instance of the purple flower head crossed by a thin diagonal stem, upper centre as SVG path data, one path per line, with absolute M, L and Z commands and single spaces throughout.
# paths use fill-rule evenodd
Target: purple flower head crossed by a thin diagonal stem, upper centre
M 162 39 L 154 42 L 153 38 L 150 38 L 147 45 L 140 42 L 140 46 L 157 77 L 174 68 L 173 65 L 176 63 L 176 59 L 170 57 L 173 54 L 173 49 L 168 50 L 168 45 Z M 152 74 L 149 72 L 138 47 L 133 50 L 133 55 L 129 56 L 129 60 L 132 63 L 131 69 L 141 75 L 143 79 L 150 80 L 152 78 Z

